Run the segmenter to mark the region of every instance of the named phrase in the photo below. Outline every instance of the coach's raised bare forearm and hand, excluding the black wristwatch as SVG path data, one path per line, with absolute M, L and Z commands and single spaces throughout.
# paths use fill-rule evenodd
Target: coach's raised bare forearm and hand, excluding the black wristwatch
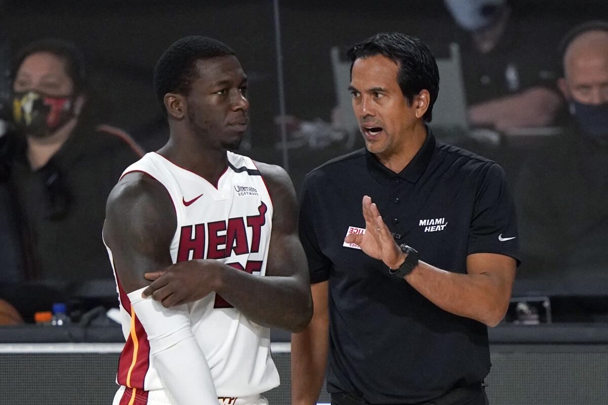
M 363 198 L 365 234 L 345 239 L 357 243 L 368 256 L 382 260 L 387 267 L 399 268 L 405 254 L 395 243 L 370 197 Z M 515 278 L 516 261 L 495 253 L 475 253 L 467 257 L 467 274 L 441 270 L 423 261 L 404 279 L 438 307 L 496 326 L 505 316 Z

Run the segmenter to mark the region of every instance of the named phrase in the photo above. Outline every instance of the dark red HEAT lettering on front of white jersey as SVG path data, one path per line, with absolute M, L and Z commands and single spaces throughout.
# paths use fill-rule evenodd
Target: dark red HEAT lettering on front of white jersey
M 262 226 L 266 224 L 268 207 L 264 202 L 258 206 L 258 214 L 253 216 L 230 218 L 227 221 L 197 223 L 196 225 L 182 226 L 179 236 L 178 262 L 192 259 L 223 259 L 235 254 L 258 253 Z M 245 227 L 252 230 L 252 240 L 249 247 Z M 194 231 L 194 233 L 193 233 Z M 226 234 L 220 235 L 220 232 Z M 205 240 L 207 239 L 207 254 L 205 254 Z

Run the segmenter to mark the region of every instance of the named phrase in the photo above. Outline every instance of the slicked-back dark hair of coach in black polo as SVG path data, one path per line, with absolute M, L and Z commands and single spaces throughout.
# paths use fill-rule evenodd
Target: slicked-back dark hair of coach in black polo
M 424 113 L 424 121 L 433 118 L 433 104 L 439 93 L 439 70 L 433 53 L 420 39 L 398 32 L 379 33 L 365 39 L 348 50 L 350 70 L 359 58 L 383 55 L 399 65 L 397 83 L 408 103 L 420 90 L 429 91 L 429 109 Z

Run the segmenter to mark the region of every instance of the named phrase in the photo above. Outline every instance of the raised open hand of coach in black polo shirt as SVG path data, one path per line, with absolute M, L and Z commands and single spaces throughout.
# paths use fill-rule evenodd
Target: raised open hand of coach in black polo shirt
M 344 242 L 356 243 L 368 256 L 382 260 L 390 268 L 398 268 L 405 260 L 404 253 L 382 220 L 378 206 L 368 196 L 363 197 L 363 217 L 365 233 L 348 234 Z

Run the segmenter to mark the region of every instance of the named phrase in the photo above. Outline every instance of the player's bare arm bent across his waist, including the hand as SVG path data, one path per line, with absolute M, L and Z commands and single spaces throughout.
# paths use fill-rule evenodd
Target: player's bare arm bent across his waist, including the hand
M 279 166 L 256 165 L 274 208 L 266 276 L 254 276 L 217 260 L 188 260 L 148 274 L 154 281 L 143 293 L 171 306 L 216 291 L 250 321 L 299 332 L 310 321 L 313 304 L 306 256 L 297 234 L 294 187 Z

